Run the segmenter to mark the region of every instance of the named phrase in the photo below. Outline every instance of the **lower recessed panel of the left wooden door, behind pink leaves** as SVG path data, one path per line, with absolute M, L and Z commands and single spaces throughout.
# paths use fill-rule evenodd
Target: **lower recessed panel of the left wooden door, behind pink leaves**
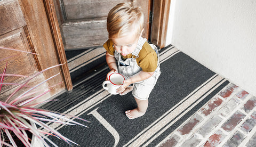
M 13 30 L 5 35 L 0 36 L 0 40 L 1 46 L 17 48 L 20 51 L 31 52 L 23 28 Z M 31 75 L 38 71 L 33 54 L 4 50 L 1 52 L 0 59 L 4 59 L 7 56 L 12 56 L 12 58 L 8 59 L 7 65 L 7 72 L 10 74 Z M 1 63 L 0 68 L 0 70 L 3 71 L 5 68 L 5 62 Z M 5 77 L 6 81 L 17 81 L 18 79 L 21 79 L 21 77 Z

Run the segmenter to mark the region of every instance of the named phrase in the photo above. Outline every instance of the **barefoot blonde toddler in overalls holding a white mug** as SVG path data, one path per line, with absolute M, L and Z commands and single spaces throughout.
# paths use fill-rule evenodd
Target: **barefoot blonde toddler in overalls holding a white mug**
M 158 51 L 142 38 L 143 13 L 130 3 L 117 4 L 108 13 L 107 30 L 109 39 L 103 47 L 107 50 L 106 61 L 110 72 L 125 77 L 124 84 L 117 89 L 119 95 L 132 91 L 138 107 L 125 111 L 130 118 L 138 118 L 148 108 L 148 97 L 161 74 Z M 132 85 L 132 86 L 131 86 Z

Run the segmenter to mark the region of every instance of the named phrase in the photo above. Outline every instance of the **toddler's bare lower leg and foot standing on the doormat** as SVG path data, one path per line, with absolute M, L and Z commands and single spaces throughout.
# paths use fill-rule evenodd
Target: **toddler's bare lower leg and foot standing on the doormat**
M 135 97 L 134 97 L 135 98 Z M 147 100 L 139 100 L 135 98 L 135 101 L 137 102 L 138 107 L 133 110 L 127 110 L 125 111 L 125 115 L 129 119 L 134 119 L 137 117 L 143 116 L 148 108 L 148 99 Z

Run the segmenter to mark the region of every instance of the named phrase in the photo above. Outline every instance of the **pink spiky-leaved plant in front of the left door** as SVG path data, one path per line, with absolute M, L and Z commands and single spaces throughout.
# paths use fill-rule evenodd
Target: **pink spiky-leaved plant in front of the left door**
M 5 50 L 12 50 L 12 51 L 19 51 L 19 52 L 24 52 L 24 51 L 20 51 L 20 50 L 15 50 L 15 49 L 12 49 L 12 48 L 6 48 L 6 47 L 0 47 L 2 49 L 5 49 Z M 30 53 L 30 52 L 26 52 L 26 53 Z M 33 53 L 34 54 L 34 53 Z M 8 58 L 6 58 L 8 59 Z M 4 59 L 5 60 L 5 59 Z M 3 60 L 0 60 L 0 61 L 3 61 Z M 57 66 L 61 66 L 62 64 L 59 64 Z M 51 144 L 53 144 L 54 146 L 57 146 L 56 144 L 54 144 L 51 140 L 49 140 L 49 138 L 47 138 L 46 136 L 41 136 L 39 135 L 38 133 L 41 132 L 42 133 L 42 130 L 39 130 L 37 128 L 34 128 L 32 127 L 31 125 L 29 125 L 29 123 L 27 123 L 27 120 L 31 121 L 31 122 L 34 122 L 36 123 L 37 125 L 41 126 L 42 128 L 46 129 L 47 131 L 51 132 L 43 132 L 44 134 L 47 134 L 47 135 L 53 135 L 53 136 L 56 136 L 58 138 L 61 138 L 62 140 L 66 141 L 68 144 L 70 143 L 74 143 L 76 144 L 75 142 L 69 140 L 68 138 L 66 138 L 65 136 L 61 135 L 57 130 L 51 128 L 50 126 L 48 126 L 47 124 L 43 123 L 42 121 L 48 121 L 48 122 L 54 122 L 54 123 L 61 123 L 61 124 L 65 124 L 65 125 L 82 125 L 80 123 L 77 123 L 76 121 L 74 120 L 71 120 L 71 119 L 74 119 L 74 118 L 78 118 L 78 117 L 74 117 L 74 116 L 69 116 L 69 115 L 62 115 L 61 113 L 55 113 L 55 112 L 52 112 L 52 111 L 46 111 L 46 110 L 41 110 L 41 109 L 34 109 L 34 108 L 30 108 L 30 106 L 34 105 L 34 104 L 31 104 L 31 105 L 27 105 L 29 102 L 31 101 L 34 101 L 35 99 L 37 99 L 38 97 L 42 96 L 43 94 L 49 92 L 48 91 L 45 91 L 35 97 L 30 97 L 28 99 L 25 99 L 25 100 L 21 100 L 19 101 L 20 99 L 23 99 L 25 98 L 26 96 L 29 96 L 31 95 L 33 92 L 32 89 L 35 89 L 36 87 L 38 87 L 39 85 L 36 85 L 32 88 L 30 88 L 28 91 L 26 91 L 25 93 L 23 93 L 22 95 L 16 97 L 16 99 L 14 99 L 14 101 L 11 101 L 10 103 L 7 103 L 11 97 L 14 96 L 15 93 L 17 93 L 22 87 L 25 87 L 27 86 L 27 84 L 29 83 L 29 81 L 33 78 L 35 78 L 36 76 L 38 76 L 39 74 L 42 74 L 42 72 L 46 71 L 46 70 L 49 70 L 51 68 L 54 68 L 54 67 L 57 67 L 57 66 L 53 66 L 53 67 L 50 67 L 50 68 L 47 68 L 47 69 L 44 69 L 40 72 L 37 72 L 35 75 L 33 76 L 30 76 L 30 77 L 27 77 L 27 76 L 22 76 L 22 75 L 14 75 L 14 74 L 6 74 L 5 71 L 3 74 L 0 74 L 1 77 L 1 81 L 0 81 L 0 85 L 7 85 L 7 84 L 11 84 L 11 85 L 17 85 L 15 83 L 3 83 L 3 78 L 4 76 L 17 76 L 17 77 L 26 77 L 28 78 L 25 83 L 21 84 L 17 89 L 15 89 L 15 91 L 7 98 L 7 100 L 5 101 L 6 103 L 1 103 L 2 105 L 0 105 L 0 107 L 2 107 L 2 110 L 5 110 L 5 114 L 7 114 L 7 117 L 8 119 L 4 118 L 5 115 L 0 115 L 1 118 L 4 118 L 4 120 L 0 121 L 0 128 L 3 128 L 7 133 L 10 134 L 9 130 L 12 130 L 14 132 L 14 134 L 16 134 L 20 140 L 26 145 L 26 146 L 29 146 L 29 142 L 27 142 L 27 134 L 25 132 L 25 130 L 29 130 L 31 133 L 33 134 L 37 134 L 36 137 L 40 138 L 41 141 L 44 143 L 45 146 L 49 146 L 47 145 L 47 143 L 44 141 L 43 138 L 45 138 L 45 140 L 49 141 Z M 6 67 L 7 67 L 7 63 L 6 63 Z M 5 69 L 6 70 L 6 69 Z M 54 76 L 57 76 L 57 75 L 54 75 Z M 53 76 L 53 77 L 54 77 Z M 53 78 L 51 77 L 51 78 Z M 49 80 L 49 79 L 47 79 Z M 46 80 L 46 81 L 47 81 Z M 44 81 L 45 82 L 45 81 Z M 46 101 L 47 102 L 47 101 Z M 24 105 L 26 105 L 26 107 L 24 107 Z M 29 107 L 28 107 L 29 106 Z M 12 112 L 15 112 L 15 113 L 12 113 Z M 39 115 L 38 115 L 39 113 Z M 13 115 L 12 115 L 13 114 Z M 9 119 L 10 117 L 10 119 Z M 66 118 L 66 117 L 69 117 L 69 118 Z M 25 120 L 26 119 L 26 120 Z M 78 119 L 81 119 L 81 118 L 78 118 Z M 81 120 L 84 120 L 84 119 L 81 119 Z M 86 121 L 86 120 L 84 120 Z M 84 126 L 84 125 L 82 125 Z M 86 127 L 86 126 L 85 126 Z M 10 135 L 7 135 L 8 137 L 11 137 Z M 12 138 L 11 138 L 12 139 Z M 10 140 L 11 140 L 10 139 Z M 2 142 L 2 140 L 0 140 Z M 14 146 L 15 143 L 13 141 L 11 141 L 12 144 Z

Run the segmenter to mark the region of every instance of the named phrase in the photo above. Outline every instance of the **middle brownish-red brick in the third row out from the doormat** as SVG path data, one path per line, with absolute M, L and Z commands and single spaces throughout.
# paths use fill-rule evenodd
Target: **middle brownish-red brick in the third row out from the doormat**
M 236 111 L 233 116 L 231 116 L 226 123 L 224 123 L 221 127 L 226 130 L 227 132 L 230 132 L 233 130 L 239 122 L 245 117 L 245 115 L 242 112 Z

